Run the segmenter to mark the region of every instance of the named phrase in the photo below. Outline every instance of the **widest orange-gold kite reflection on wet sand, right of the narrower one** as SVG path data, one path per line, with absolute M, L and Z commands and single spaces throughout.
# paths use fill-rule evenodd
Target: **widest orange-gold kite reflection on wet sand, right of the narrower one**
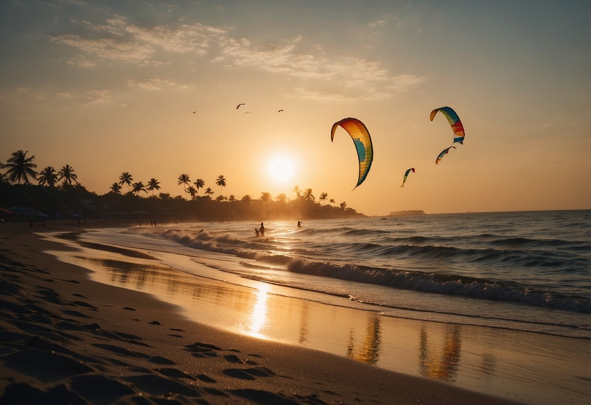
M 453 381 L 460 363 L 460 326 L 445 325 L 443 350 L 436 354 L 436 342 L 428 343 L 427 330 L 421 328 L 419 368 L 421 374 L 434 380 Z

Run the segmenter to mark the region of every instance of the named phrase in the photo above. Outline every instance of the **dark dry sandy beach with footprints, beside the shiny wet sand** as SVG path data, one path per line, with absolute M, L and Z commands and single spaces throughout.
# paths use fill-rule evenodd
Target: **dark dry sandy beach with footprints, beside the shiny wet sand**
M 200 324 L 44 253 L 66 247 L 37 232 L 60 229 L 79 230 L 0 227 L 1 403 L 512 403 Z

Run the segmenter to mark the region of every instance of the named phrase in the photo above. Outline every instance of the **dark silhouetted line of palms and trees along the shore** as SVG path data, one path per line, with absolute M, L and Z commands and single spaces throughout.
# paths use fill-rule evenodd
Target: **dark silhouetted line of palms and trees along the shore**
M 147 184 L 134 181 L 129 172 L 122 172 L 113 182 L 109 192 L 97 195 L 80 184 L 78 175 L 70 165 L 56 170 L 47 166 L 36 171 L 35 156 L 28 151 L 13 152 L 5 164 L 0 162 L 0 207 L 12 208 L 11 220 L 29 220 L 34 215 L 47 219 L 57 218 L 122 218 L 141 220 L 230 220 L 230 219 L 280 219 L 280 218 L 334 218 L 358 216 L 345 201 L 336 204 L 327 192 L 318 201 L 311 188 L 293 188 L 294 198 L 284 193 L 272 197 L 261 192 L 258 198 L 249 194 L 237 197 L 223 195 L 228 180 L 219 175 L 216 191 L 205 187 L 202 178 L 191 181 L 186 173 L 176 179 L 183 187 L 184 197 L 171 197 L 158 192 L 161 182 L 151 178 Z M 37 184 L 33 184 L 37 181 Z M 125 191 L 126 189 L 126 191 Z M 203 195 L 200 195 L 200 190 Z M 28 210 L 28 211 L 27 211 Z M 10 210 L 8 210 L 10 211 Z M 3 211 L 4 212 L 4 211 Z

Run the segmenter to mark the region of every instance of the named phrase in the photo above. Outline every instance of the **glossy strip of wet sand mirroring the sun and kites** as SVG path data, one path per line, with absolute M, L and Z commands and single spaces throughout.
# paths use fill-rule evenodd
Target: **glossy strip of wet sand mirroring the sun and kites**
M 96 281 L 151 293 L 202 324 L 492 394 L 524 399 L 529 387 L 530 403 L 558 403 L 585 390 L 582 374 L 571 365 L 573 356 L 589 356 L 587 341 L 382 316 L 290 298 L 290 289 L 256 280 L 245 286 L 198 276 L 211 275 L 211 269 L 189 257 L 174 256 L 174 263 L 190 266 L 192 274 L 148 253 L 81 244 L 72 235 L 60 241 L 69 249 L 50 252 L 58 260 L 93 270 Z M 530 344 L 523 345 L 524 339 Z M 560 396 L 535 394 L 545 386 Z

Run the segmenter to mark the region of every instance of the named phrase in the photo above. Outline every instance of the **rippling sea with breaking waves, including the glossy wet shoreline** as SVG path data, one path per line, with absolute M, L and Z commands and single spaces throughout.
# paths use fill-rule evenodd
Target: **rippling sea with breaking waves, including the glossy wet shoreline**
M 256 324 L 253 335 L 261 338 L 526 403 L 584 403 L 589 395 L 591 210 L 303 220 L 301 228 L 297 220 L 265 221 L 265 236 L 256 236 L 259 226 L 255 221 L 142 224 L 61 238 L 86 249 L 147 252 L 173 271 L 165 277 L 169 285 L 178 274 L 186 285 L 228 286 L 208 287 L 216 298 L 207 288 L 191 289 L 191 299 L 200 300 L 197 308 L 215 299 L 232 306 L 233 296 L 242 294 L 233 286 L 310 304 L 290 321 L 298 324 L 290 341 L 285 328 L 291 326 L 280 325 L 283 315 L 275 326 L 268 313 L 267 320 L 255 319 L 261 297 L 252 298 L 249 330 Z M 124 271 L 118 260 L 103 260 L 102 266 L 118 268 L 110 278 L 129 283 L 132 267 Z M 135 288 L 145 288 L 150 274 L 164 271 L 149 270 L 135 276 Z M 180 295 L 178 286 L 167 288 L 170 297 Z M 243 306 L 235 304 L 233 311 Z M 282 306 L 286 319 L 291 306 Z M 350 312 L 337 315 L 345 313 L 337 309 Z M 328 317 L 323 319 L 340 321 L 325 328 L 307 320 L 323 311 Z M 357 313 L 370 315 L 355 321 Z M 235 326 L 243 320 L 232 316 L 220 318 L 243 333 Z M 401 320 L 423 322 L 420 334 L 403 342 L 408 334 L 402 335 Z M 211 322 L 224 326 L 219 319 Z M 363 324 L 362 330 L 355 323 Z M 437 350 L 440 357 L 429 361 L 428 354 L 433 360 Z

